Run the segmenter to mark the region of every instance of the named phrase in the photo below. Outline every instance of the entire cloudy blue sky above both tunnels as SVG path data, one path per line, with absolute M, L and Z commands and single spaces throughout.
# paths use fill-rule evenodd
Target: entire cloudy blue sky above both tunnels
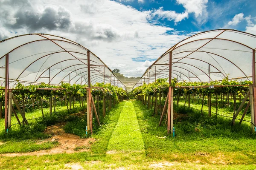
M 256 0 L 0 0 L 0 6 L 0 40 L 28 33 L 65 37 L 130 77 L 201 31 L 256 34 Z

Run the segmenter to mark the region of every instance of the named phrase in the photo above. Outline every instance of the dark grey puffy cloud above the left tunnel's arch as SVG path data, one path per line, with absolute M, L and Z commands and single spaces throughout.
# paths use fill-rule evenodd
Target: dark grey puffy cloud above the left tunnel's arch
M 64 7 L 46 6 L 43 11 L 38 11 L 25 0 L 19 1 L 18 4 L 15 4 L 16 2 L 13 0 L 7 2 L 9 4 L 3 3 L 3 5 L 7 7 L 19 5 L 20 8 L 12 12 L 9 12 L 8 8 L 2 8 L 2 13 L 5 14 L 7 19 L 1 19 L 3 19 L 3 24 L 6 27 L 13 29 L 28 28 L 31 31 L 36 31 L 41 28 L 55 30 L 65 29 L 70 26 L 70 13 Z

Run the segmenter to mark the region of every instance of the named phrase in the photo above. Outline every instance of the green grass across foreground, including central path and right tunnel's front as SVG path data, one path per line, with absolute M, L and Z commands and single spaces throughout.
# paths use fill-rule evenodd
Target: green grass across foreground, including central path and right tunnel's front
M 136 115 L 132 111 L 131 102 L 121 102 L 108 111 L 106 118 L 100 118 L 102 125 L 93 131 L 92 137 L 96 142 L 92 144 L 90 152 L 39 157 L 2 156 L 0 169 L 68 169 L 67 164 L 78 164 L 90 170 L 256 169 L 255 136 L 245 133 L 247 124 L 241 125 L 240 128 L 239 125 L 230 127 L 228 124 L 230 119 L 218 117 L 215 120 L 205 115 L 201 116 L 200 112 L 188 108 L 176 108 L 180 111 L 183 109 L 186 114 L 180 115 L 180 119 L 175 120 L 177 134 L 173 139 L 172 136 L 167 136 L 165 125 L 158 127 L 160 116 L 152 116 L 153 110 L 147 110 L 139 101 L 132 103 Z M 74 120 L 71 122 L 76 122 Z M 75 126 L 70 125 L 70 128 Z M 130 126 L 132 129 L 125 129 Z M 157 136 L 167 136 L 167 138 L 159 139 Z M 130 143 L 120 144 L 126 142 L 123 138 L 127 138 L 130 142 L 134 142 L 134 138 L 143 141 L 135 146 Z M 114 146 L 114 143 L 119 146 Z M 125 152 L 106 154 L 108 149 L 114 150 L 114 147 Z M 144 156 L 133 153 L 134 148 L 142 147 L 145 148 Z

